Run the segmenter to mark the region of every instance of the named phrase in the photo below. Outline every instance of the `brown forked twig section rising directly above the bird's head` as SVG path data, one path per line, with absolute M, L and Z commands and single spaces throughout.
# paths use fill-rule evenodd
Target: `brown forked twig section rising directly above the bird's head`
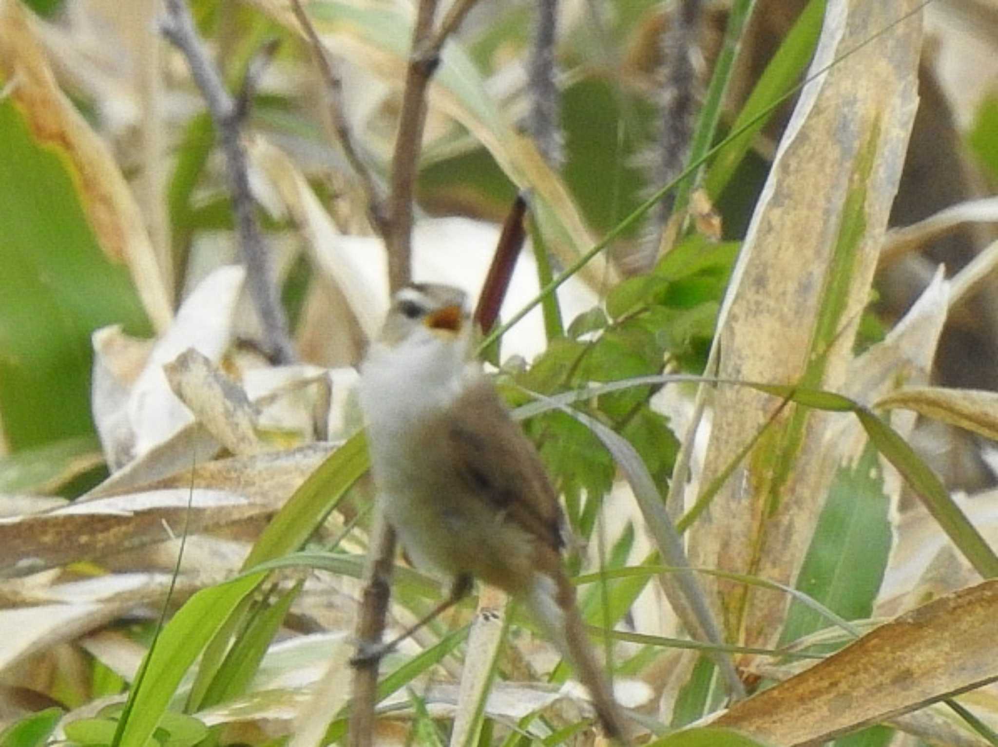
M 420 0 L 412 30 L 412 47 L 402 92 L 398 136 L 392 155 L 391 196 L 388 199 L 388 286 L 392 292 L 412 276 L 412 196 L 419 148 L 426 124 L 426 88 L 440 63 L 440 50 L 475 0 L 458 0 L 433 32 L 437 0 Z

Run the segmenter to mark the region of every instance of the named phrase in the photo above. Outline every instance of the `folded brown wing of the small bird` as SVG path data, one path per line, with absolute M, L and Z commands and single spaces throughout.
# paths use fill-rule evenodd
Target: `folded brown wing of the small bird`
M 492 384 L 469 386 L 449 410 L 447 442 L 456 471 L 476 497 L 553 550 L 562 513 L 541 459 Z

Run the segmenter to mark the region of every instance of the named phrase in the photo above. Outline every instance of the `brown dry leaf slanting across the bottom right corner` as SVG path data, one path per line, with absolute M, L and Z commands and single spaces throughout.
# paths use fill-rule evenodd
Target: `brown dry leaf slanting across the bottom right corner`
M 816 744 L 998 680 L 998 580 L 913 609 L 714 721 Z

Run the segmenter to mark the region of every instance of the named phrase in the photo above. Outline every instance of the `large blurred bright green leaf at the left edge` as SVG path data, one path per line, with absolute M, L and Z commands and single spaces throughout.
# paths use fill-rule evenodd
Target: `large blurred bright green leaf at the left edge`
M 150 325 L 91 226 L 75 155 L 33 132 L 13 97 L 0 99 L 0 143 L 0 420 L 18 451 L 92 433 L 91 333 Z

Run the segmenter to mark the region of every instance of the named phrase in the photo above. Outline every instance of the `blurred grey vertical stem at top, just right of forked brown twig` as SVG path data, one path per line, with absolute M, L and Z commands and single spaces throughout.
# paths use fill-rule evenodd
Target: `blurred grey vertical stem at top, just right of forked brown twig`
M 537 4 L 537 31 L 527 72 L 527 88 L 530 91 L 527 132 L 552 169 L 560 169 L 565 161 L 564 138 L 559 127 L 558 85 L 555 82 L 557 19 L 558 0 L 540 0 Z

